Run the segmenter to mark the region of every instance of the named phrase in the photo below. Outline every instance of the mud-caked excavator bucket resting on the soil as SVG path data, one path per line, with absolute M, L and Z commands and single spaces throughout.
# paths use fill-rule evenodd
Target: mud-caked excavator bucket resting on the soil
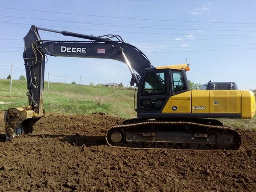
M 4 114 L 6 140 L 11 140 L 20 134 L 32 133 L 33 125 L 41 117 L 32 110 L 31 106 L 24 108 L 9 108 Z

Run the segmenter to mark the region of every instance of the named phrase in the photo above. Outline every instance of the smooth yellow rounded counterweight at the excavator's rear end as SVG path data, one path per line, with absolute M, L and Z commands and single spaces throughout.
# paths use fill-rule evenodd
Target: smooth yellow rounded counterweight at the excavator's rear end
M 241 90 L 242 119 L 253 118 L 255 115 L 255 97 L 252 91 Z

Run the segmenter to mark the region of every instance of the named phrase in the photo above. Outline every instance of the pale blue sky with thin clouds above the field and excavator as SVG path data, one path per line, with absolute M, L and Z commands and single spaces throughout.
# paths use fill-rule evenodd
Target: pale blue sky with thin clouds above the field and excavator
M 236 81 L 256 89 L 256 0 L 1 0 L 0 78 L 25 75 L 23 37 L 32 24 L 86 35 L 120 35 L 154 66 L 186 63 L 195 83 Z M 77 40 L 40 31 L 42 39 Z M 45 79 L 129 84 L 118 61 L 48 56 Z M 5 66 L 7 65 L 7 66 Z

